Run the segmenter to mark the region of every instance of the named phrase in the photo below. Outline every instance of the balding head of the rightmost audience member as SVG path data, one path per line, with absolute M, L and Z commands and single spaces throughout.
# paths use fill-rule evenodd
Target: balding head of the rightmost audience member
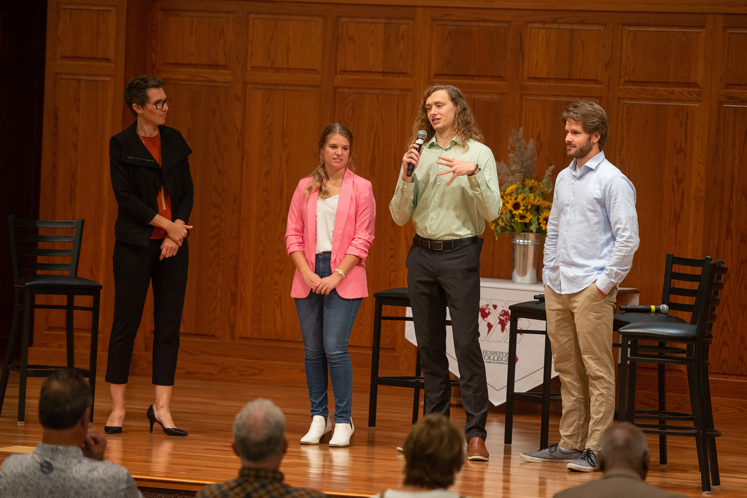
M 630 423 L 613 423 L 602 434 L 602 470 L 633 470 L 646 478 L 648 444 L 641 429 Z

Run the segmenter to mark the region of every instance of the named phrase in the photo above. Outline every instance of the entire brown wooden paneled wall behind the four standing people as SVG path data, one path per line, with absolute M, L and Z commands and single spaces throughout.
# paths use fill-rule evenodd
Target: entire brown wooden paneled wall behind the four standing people
M 97 1 L 49 3 L 41 212 L 86 218 L 81 275 L 105 284 L 106 336 L 116 215 L 106 144 L 131 118 L 120 118 L 125 0 Z M 373 183 L 369 291 L 406 284 L 413 229 L 394 224 L 388 203 L 424 88 L 450 83 L 468 97 L 498 161 L 508 160 L 512 128 L 524 127 L 536 141 L 539 176 L 569 162 L 560 123 L 566 102 L 600 103 L 610 118 L 607 158 L 638 193 L 641 245 L 624 285 L 639 287 L 642 302 L 658 302 L 666 252 L 724 260 L 730 270 L 712 374 L 747 379 L 740 327 L 747 320 L 740 250 L 747 237 L 747 16 L 708 13 L 701 4 L 688 13 L 686 5 L 642 13 L 579 11 L 577 4 L 509 10 L 129 0 L 126 72 L 164 78 L 173 98 L 167 125 L 194 151 L 180 375 L 258 375 L 256 360 L 268 359 L 302 367 L 283 235 L 294 187 L 313 169 L 329 122 L 352 129 L 356 172 Z M 484 236 L 483 276 L 510 278 L 509 240 Z M 151 312 L 134 373 L 149 371 Z M 46 316 L 35 340 L 42 349 L 62 337 L 63 320 Z M 372 316 L 373 299 L 365 299 L 350 337 L 354 366 L 370 356 Z M 105 352 L 107 340 L 101 343 Z M 382 346 L 386 368 L 412 367 L 401 325 L 385 327 Z

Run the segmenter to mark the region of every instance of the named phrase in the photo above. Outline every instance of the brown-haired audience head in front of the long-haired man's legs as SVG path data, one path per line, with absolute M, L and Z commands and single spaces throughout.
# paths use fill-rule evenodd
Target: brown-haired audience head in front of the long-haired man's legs
M 418 488 L 448 488 L 465 461 L 464 437 L 441 414 L 429 414 L 412 427 L 403 450 L 403 484 Z

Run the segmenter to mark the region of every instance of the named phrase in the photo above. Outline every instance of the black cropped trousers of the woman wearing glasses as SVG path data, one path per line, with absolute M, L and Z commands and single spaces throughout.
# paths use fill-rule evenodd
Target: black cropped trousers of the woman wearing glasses
M 153 282 L 153 384 L 174 385 L 179 355 L 179 328 L 187 289 L 187 240 L 171 258 L 161 257 L 162 239 L 148 246 L 114 245 L 114 324 L 109 339 L 106 382 L 126 384 L 132 346 L 143 318 L 148 285 Z

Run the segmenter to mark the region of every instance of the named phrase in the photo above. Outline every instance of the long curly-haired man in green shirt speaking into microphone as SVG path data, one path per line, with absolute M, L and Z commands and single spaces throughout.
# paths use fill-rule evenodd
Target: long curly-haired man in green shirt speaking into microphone
M 498 217 L 502 204 L 495 158 L 482 143 L 465 97 L 452 85 L 427 88 L 410 143 L 418 130 L 427 132 L 423 150 L 418 153 L 418 146 L 411 145 L 403 156 L 389 211 L 400 226 L 412 218 L 416 232 L 406 260 L 407 287 L 425 379 L 425 412 L 449 415 L 448 306 L 467 414 L 468 458 L 487 461 L 488 385 L 478 329 L 483 239 L 477 236 L 486 220 Z M 415 166 L 412 176 L 408 164 Z

